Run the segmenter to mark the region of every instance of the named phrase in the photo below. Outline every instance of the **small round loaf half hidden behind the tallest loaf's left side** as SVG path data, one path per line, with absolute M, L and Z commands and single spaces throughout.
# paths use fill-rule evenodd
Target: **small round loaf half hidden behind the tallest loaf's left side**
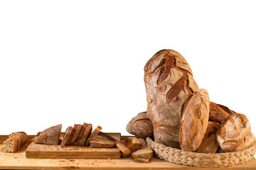
M 126 128 L 127 132 L 136 137 L 151 137 L 153 136 L 153 125 L 151 120 L 146 115 L 146 112 L 139 113 L 129 121 Z

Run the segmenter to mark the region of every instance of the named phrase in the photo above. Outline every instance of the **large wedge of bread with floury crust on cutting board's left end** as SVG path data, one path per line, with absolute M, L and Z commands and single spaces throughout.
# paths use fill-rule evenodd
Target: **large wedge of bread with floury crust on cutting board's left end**
M 58 145 L 61 127 L 62 125 L 60 124 L 43 130 L 40 135 L 35 137 L 33 142 L 36 144 Z

